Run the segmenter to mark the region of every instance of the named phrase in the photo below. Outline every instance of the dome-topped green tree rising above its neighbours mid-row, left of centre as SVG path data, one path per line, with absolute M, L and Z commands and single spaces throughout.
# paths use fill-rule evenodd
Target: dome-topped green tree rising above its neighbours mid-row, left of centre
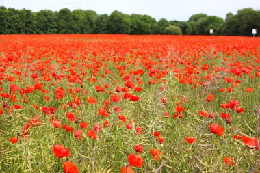
M 131 31 L 131 18 L 127 14 L 115 10 L 109 16 L 108 27 L 111 34 L 129 34 Z

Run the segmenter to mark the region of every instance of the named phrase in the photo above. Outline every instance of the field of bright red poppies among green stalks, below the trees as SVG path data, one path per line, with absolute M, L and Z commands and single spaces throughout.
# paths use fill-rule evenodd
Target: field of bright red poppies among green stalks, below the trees
M 0 36 L 0 172 L 260 172 L 260 38 Z

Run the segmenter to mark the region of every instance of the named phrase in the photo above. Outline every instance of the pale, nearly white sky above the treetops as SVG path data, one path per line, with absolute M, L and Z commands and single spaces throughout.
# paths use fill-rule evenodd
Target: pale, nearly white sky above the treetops
M 259 0 L 0 0 L 0 6 L 15 9 L 58 11 L 94 10 L 97 14 L 111 14 L 118 10 L 125 14 L 148 14 L 157 21 L 187 21 L 193 14 L 204 13 L 226 18 L 226 14 L 242 8 L 260 10 Z

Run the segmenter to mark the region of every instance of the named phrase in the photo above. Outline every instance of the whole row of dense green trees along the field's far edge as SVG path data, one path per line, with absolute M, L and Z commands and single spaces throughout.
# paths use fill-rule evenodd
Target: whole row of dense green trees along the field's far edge
M 141 14 L 96 14 L 93 10 L 63 8 L 51 10 L 16 10 L 0 7 L 0 34 L 189 34 L 252 36 L 260 29 L 260 10 L 244 8 L 237 14 L 218 16 L 194 14 L 188 21 L 168 21 Z M 260 31 L 256 36 L 260 36 Z

